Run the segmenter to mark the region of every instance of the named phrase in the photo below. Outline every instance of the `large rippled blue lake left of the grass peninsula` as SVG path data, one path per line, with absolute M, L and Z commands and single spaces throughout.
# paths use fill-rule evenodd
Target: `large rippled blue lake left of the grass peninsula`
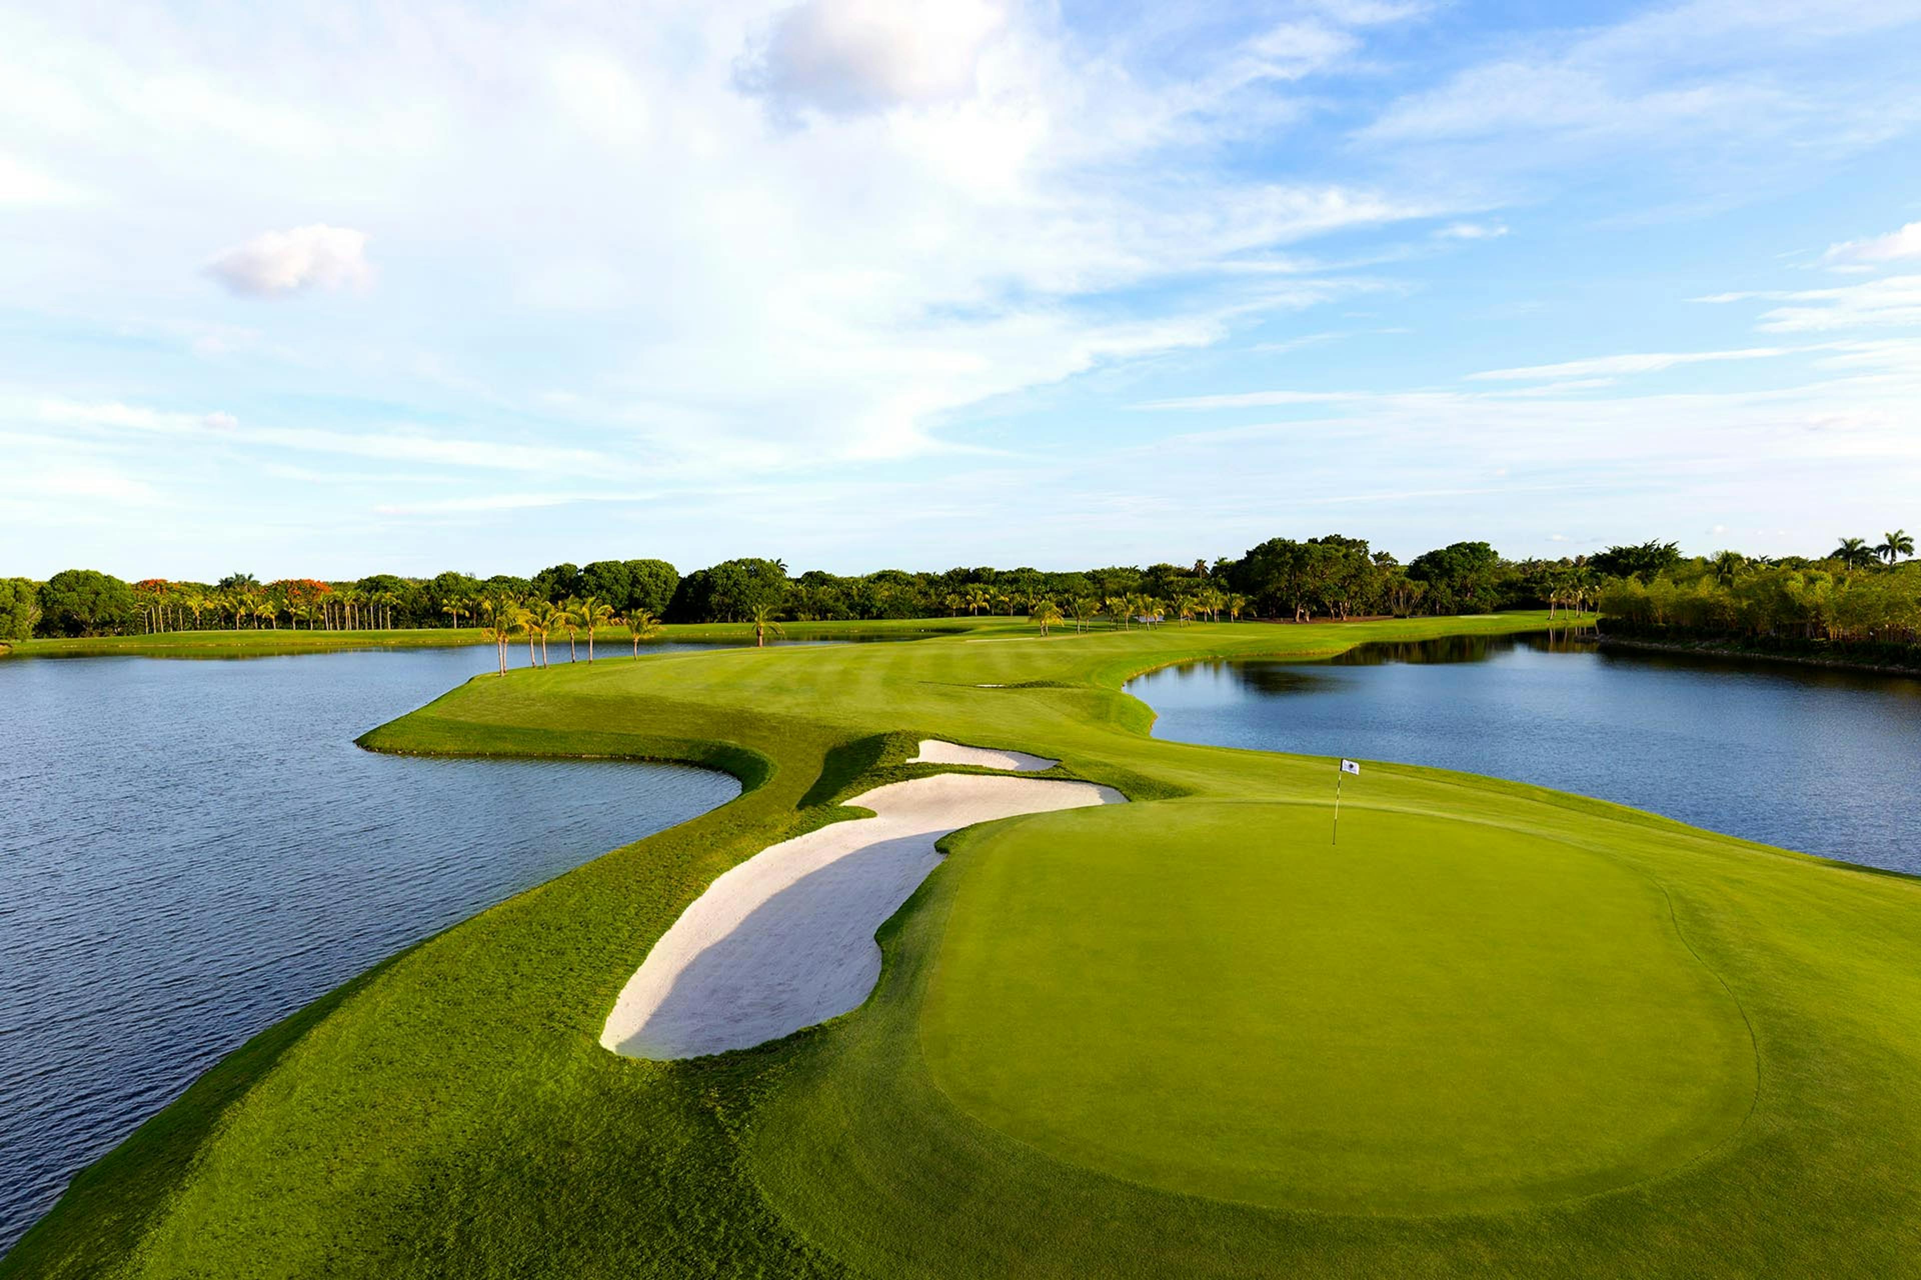
M 682 766 L 353 747 L 494 660 L 0 662 L 0 1251 L 254 1032 L 740 793 Z

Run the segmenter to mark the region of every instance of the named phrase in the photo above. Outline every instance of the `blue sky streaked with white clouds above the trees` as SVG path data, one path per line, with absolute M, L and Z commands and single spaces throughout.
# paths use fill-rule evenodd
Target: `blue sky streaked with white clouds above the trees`
M 1921 528 L 1921 0 L 0 0 L 0 574 Z

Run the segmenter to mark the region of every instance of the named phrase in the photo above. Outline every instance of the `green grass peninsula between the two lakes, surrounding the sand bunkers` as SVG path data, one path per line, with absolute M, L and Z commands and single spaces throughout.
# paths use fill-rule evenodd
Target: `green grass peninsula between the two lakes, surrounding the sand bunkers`
M 1375 764 L 1335 846 L 1331 762 L 1153 739 L 1120 689 L 1541 626 L 995 624 L 474 677 L 365 745 L 743 794 L 257 1036 L 0 1276 L 1913 1274 L 1921 881 Z M 920 737 L 1131 802 L 951 837 L 845 1017 L 599 1048 L 715 875 L 930 771 Z

